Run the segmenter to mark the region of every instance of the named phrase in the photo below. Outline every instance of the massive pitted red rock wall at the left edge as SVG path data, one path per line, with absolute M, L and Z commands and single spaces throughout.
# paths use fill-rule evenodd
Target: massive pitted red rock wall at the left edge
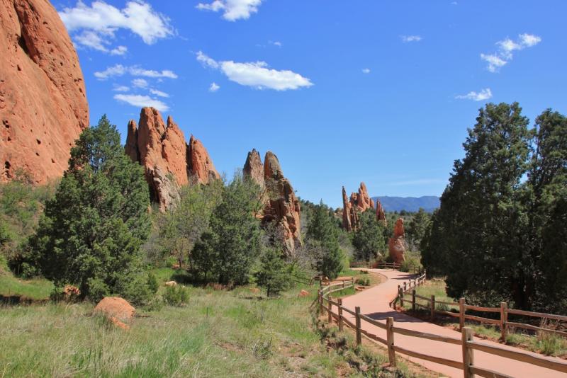
M 62 176 L 89 125 L 77 52 L 45 0 L 0 0 L 0 181 Z

